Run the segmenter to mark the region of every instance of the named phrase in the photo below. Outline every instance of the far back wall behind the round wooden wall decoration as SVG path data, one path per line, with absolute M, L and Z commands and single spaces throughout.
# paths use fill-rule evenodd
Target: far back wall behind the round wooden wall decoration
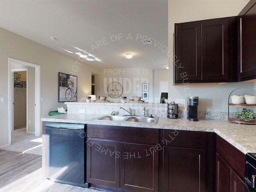
M 124 92 L 122 96 L 128 99 L 132 96 L 142 96 L 142 83 L 149 84 L 149 99 L 145 101 L 153 102 L 153 70 L 144 68 L 120 68 L 120 69 L 102 69 L 100 74 L 95 76 L 96 97 L 107 96 L 108 100 L 120 102 L 118 99 L 112 99 L 107 92 L 108 85 L 111 82 L 122 84 Z

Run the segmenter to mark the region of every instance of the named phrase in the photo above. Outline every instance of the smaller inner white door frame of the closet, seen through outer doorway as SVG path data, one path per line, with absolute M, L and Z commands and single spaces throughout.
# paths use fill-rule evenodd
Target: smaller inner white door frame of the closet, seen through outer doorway
M 11 69 L 12 72 L 12 85 L 14 84 L 14 72 L 17 71 L 26 71 L 26 78 L 27 78 L 27 82 L 28 82 L 28 68 L 20 68 L 20 69 Z M 12 96 L 12 123 L 11 123 L 11 130 L 14 130 L 14 86 L 12 86 L 11 89 L 11 96 Z M 28 132 L 28 83 L 27 83 L 27 88 L 26 88 L 26 131 Z

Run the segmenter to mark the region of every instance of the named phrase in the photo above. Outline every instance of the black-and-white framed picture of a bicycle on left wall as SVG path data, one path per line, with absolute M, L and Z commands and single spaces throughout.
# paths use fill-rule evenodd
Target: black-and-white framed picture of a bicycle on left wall
M 59 72 L 59 102 L 77 101 L 77 76 Z

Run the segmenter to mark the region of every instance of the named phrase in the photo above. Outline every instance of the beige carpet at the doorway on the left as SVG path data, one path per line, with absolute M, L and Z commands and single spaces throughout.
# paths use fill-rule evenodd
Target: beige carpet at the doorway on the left
M 25 129 L 12 131 L 11 145 L 0 148 L 7 151 L 42 155 L 42 137 L 26 133 Z

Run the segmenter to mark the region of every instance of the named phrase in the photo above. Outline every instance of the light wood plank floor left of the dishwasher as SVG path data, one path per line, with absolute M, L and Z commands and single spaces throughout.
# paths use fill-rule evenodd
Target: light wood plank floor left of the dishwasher
M 0 150 L 0 192 L 99 192 L 42 178 L 42 156 Z

